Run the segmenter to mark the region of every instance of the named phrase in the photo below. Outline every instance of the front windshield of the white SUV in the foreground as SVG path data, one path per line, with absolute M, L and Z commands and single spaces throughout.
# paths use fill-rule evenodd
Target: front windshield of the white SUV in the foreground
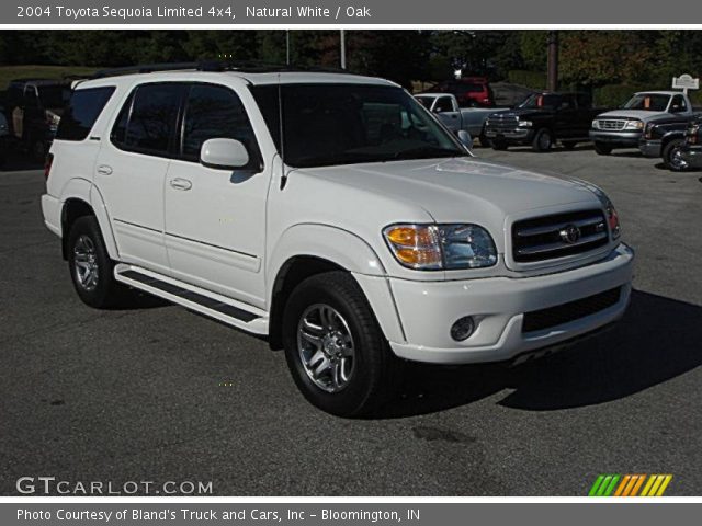
M 414 96 L 400 88 L 369 84 L 252 87 L 284 162 L 310 168 L 468 156 Z

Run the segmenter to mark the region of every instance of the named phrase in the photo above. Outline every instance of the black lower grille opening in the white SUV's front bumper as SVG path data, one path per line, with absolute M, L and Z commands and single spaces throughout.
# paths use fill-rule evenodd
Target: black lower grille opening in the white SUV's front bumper
M 569 304 L 525 312 L 524 320 L 522 321 L 522 332 L 543 331 L 592 316 L 616 305 L 620 296 L 621 287 L 616 287 L 596 294 L 595 296 L 570 301 Z

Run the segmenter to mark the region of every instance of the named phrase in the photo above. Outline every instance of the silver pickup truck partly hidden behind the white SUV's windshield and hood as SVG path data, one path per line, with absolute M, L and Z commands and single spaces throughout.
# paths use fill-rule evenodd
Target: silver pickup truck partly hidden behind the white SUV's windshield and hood
M 509 111 L 509 107 L 458 107 L 458 101 L 451 93 L 421 93 L 415 95 L 421 104 L 434 113 L 454 134 L 463 129 L 471 137 L 478 137 L 480 145 L 489 146 L 485 136 L 485 121 L 488 115 Z

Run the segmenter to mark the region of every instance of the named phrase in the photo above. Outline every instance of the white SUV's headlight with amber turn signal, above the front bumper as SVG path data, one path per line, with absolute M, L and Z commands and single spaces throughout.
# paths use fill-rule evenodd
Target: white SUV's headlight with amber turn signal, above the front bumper
M 393 225 L 383 236 L 397 261 L 409 268 L 482 268 L 497 263 L 492 238 L 477 225 Z

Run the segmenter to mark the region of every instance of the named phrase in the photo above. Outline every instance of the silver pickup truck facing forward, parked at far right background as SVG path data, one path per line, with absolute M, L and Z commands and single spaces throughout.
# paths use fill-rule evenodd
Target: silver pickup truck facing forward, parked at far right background
M 672 115 L 689 117 L 692 112 L 690 99 L 679 91 L 635 93 L 621 108 L 598 115 L 590 138 L 595 151 L 608 156 L 615 148 L 636 148 L 648 122 Z

